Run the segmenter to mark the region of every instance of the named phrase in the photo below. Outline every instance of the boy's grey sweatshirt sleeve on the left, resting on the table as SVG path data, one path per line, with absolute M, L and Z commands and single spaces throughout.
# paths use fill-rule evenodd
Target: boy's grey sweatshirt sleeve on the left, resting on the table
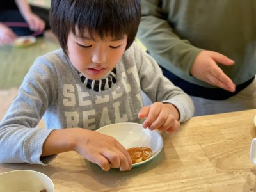
M 0 163 L 45 165 L 55 157 L 40 158 L 44 141 L 53 129 L 36 127 L 58 90 L 54 68 L 48 66 L 35 61 L 0 123 Z

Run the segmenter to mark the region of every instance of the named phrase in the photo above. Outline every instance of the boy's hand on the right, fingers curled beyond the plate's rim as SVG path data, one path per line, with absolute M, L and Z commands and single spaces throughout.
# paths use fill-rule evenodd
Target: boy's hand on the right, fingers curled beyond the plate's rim
M 172 104 L 154 102 L 150 106 L 143 107 L 138 113 L 138 118 L 146 118 L 143 127 L 167 133 L 177 131 L 180 127 L 179 111 Z

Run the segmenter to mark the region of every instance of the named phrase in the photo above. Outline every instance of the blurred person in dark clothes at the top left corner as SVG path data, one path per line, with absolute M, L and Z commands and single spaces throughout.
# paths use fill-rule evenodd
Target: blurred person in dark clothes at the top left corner
M 27 0 L 0 1 L 0 46 L 17 36 L 42 35 L 50 30 L 49 9 L 29 5 Z

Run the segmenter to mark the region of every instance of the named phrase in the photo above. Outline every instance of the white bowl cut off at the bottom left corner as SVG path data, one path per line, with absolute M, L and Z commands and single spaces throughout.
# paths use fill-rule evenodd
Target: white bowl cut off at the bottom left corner
M 45 189 L 54 192 L 52 180 L 43 173 L 33 170 L 15 170 L 0 174 L 0 191 L 37 191 Z

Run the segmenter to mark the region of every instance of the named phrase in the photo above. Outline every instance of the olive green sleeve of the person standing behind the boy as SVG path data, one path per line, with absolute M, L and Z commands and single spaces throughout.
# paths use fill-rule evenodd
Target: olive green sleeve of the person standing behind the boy
M 174 65 L 189 74 L 191 65 L 202 49 L 175 34 L 168 22 L 168 13 L 161 9 L 160 4 L 159 0 L 141 0 L 138 39 L 164 68 L 171 70 L 170 65 Z M 165 6 L 168 9 L 170 2 L 165 2 Z

